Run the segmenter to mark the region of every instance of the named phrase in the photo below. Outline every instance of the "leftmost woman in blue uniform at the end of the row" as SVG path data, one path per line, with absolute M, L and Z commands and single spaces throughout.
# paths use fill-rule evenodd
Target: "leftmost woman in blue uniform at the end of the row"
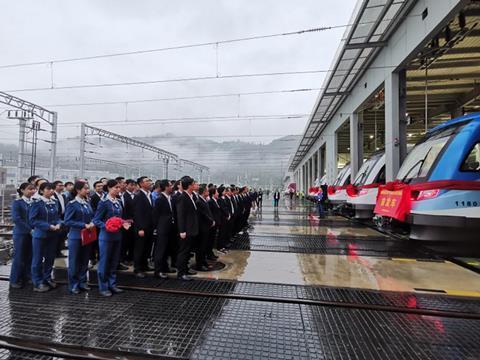
M 28 222 L 28 211 L 32 205 L 35 186 L 23 183 L 17 192 L 20 196 L 12 204 L 13 262 L 10 272 L 10 287 L 20 289 L 31 278 L 32 227 Z

